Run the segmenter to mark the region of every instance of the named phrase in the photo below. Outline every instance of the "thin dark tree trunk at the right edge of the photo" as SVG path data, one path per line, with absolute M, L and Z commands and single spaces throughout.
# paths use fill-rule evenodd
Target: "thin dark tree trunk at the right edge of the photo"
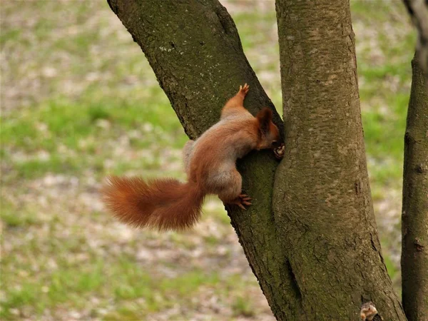
M 428 320 L 428 87 L 417 59 L 404 136 L 402 299 L 411 321 Z

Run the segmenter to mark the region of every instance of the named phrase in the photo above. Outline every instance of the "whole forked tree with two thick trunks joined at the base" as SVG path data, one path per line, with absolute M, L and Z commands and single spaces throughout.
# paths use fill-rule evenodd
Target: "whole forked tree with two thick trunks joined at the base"
M 273 108 L 217 0 L 108 3 L 143 49 L 190 138 L 218 121 L 242 83 L 251 86 L 245 100 L 251 112 Z M 228 214 L 278 320 L 357 320 L 366 301 L 385 320 L 404 320 L 372 212 L 349 3 L 319 6 L 317 12 L 309 0 L 277 3 L 286 156 L 276 175 L 269 152 L 238 163 L 253 206 Z M 275 122 L 282 130 L 277 113 Z

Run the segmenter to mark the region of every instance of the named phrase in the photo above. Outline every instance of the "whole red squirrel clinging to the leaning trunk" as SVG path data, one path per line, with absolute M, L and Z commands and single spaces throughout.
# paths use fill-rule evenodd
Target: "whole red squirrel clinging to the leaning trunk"
M 280 140 L 272 111 L 253 116 L 244 106 L 250 87 L 245 83 L 225 104 L 220 121 L 183 148 L 187 183 L 173 178 L 146 182 L 142 178 L 111 176 L 102 193 L 107 208 L 123 223 L 158 230 L 190 228 L 201 215 L 203 199 L 216 194 L 224 204 L 251 205 L 242 193 L 236 160 L 253 149 L 272 148 Z

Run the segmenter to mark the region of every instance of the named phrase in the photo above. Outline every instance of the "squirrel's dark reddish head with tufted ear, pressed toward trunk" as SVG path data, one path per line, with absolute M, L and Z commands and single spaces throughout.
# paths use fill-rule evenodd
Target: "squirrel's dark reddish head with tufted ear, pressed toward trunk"
M 263 108 L 255 118 L 257 119 L 259 134 L 256 149 L 276 147 L 277 143 L 280 143 L 281 137 L 277 126 L 272 123 L 272 111 L 270 108 Z

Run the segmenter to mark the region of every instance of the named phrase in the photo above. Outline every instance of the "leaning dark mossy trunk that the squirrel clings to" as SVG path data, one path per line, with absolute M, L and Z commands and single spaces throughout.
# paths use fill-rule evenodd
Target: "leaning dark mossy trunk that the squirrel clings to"
M 250 112 L 274 108 L 243 54 L 233 20 L 217 0 L 108 0 L 108 4 L 143 49 L 190 138 L 218 121 L 220 109 L 240 84 L 250 84 L 245 98 Z M 276 111 L 275 123 L 282 132 Z M 286 320 L 284 311 L 298 297 L 275 234 L 271 201 L 277 164 L 271 152 L 250 153 L 238 163 L 253 205 L 245 212 L 228 208 L 228 214 L 272 311 Z

